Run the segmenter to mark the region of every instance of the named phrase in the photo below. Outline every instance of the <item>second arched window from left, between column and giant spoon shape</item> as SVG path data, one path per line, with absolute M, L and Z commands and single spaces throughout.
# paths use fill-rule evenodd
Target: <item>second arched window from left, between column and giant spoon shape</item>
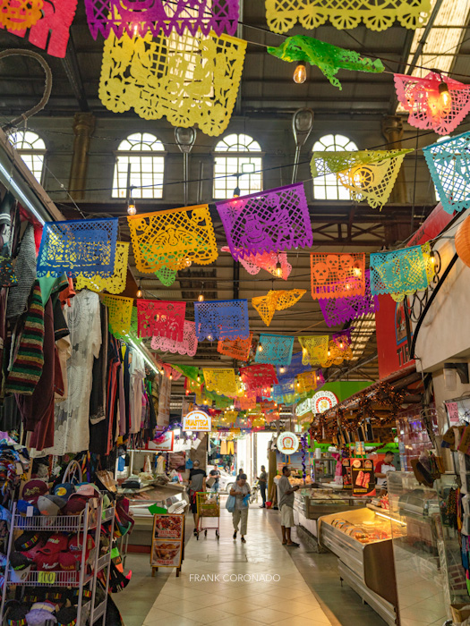
M 128 184 L 134 188 L 132 198 L 162 198 L 163 151 L 162 142 L 149 132 L 134 132 L 121 141 L 115 157 L 113 198 L 127 198 Z

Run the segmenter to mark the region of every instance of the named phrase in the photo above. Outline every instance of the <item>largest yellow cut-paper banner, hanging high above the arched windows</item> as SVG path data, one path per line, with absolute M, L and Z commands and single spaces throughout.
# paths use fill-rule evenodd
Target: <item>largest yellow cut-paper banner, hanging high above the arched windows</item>
M 169 4 L 169 3 L 168 3 Z M 153 38 L 111 33 L 105 41 L 99 98 L 115 113 L 133 107 L 146 120 L 164 115 L 173 126 L 198 124 L 217 137 L 234 110 L 246 41 L 189 33 Z

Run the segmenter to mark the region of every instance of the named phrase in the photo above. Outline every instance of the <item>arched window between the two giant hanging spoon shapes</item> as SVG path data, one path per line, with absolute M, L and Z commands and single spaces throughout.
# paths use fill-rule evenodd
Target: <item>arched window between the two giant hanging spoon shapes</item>
M 234 133 L 220 140 L 215 151 L 215 199 L 232 198 L 236 187 L 240 189 L 240 196 L 262 191 L 262 154 L 258 141 L 249 135 Z

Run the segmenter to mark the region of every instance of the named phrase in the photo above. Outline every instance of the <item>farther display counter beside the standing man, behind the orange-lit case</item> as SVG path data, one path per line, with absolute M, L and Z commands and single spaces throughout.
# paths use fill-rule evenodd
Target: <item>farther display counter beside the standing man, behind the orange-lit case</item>
M 346 490 L 300 489 L 295 492 L 295 524 L 307 529 L 313 537 L 318 537 L 317 520 L 319 517 L 329 513 L 362 508 L 369 502 L 371 498 L 353 497 L 351 492 Z

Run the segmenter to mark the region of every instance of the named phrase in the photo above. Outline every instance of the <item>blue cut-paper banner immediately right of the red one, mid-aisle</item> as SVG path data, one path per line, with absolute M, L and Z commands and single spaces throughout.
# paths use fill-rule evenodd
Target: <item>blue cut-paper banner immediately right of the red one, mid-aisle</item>
M 246 339 L 250 336 L 247 300 L 194 302 L 196 336 L 209 339 Z

